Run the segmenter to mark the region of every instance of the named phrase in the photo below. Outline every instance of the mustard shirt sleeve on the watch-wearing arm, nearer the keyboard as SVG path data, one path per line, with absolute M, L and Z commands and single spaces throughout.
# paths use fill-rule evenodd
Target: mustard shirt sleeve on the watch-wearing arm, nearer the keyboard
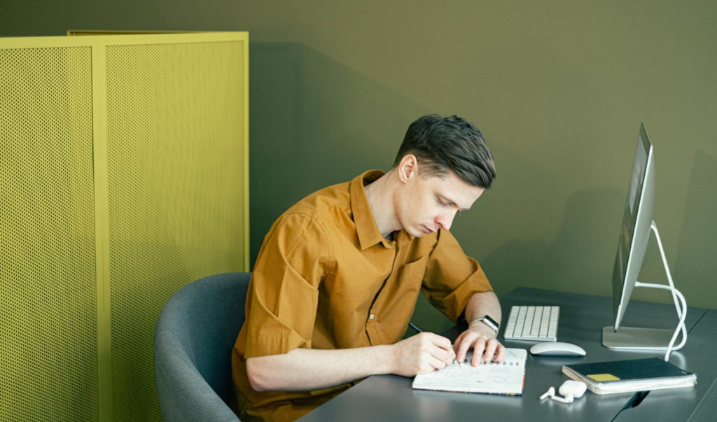
M 480 264 L 465 255 L 450 231 L 440 230 L 422 285 L 429 302 L 457 322 L 473 294 L 492 290 Z

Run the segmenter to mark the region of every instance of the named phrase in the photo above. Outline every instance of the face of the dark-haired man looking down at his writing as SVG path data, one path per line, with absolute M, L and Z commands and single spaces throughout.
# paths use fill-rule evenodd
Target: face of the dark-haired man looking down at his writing
M 483 188 L 465 183 L 452 171 L 440 177 L 414 173 L 402 187 L 395 204 L 397 218 L 416 237 L 449 230 L 456 214 L 473 206 L 483 194 Z

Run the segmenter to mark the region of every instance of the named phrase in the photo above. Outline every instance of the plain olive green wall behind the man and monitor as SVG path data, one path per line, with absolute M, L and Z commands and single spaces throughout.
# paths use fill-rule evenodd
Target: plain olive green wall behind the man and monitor
M 389 168 L 419 115 L 457 114 L 483 130 L 498 179 L 452 231 L 496 291 L 609 295 L 644 122 L 675 284 L 717 308 L 715 1 L 6 3 L 0 36 L 250 32 L 252 257 L 293 202 Z M 640 278 L 666 282 L 654 239 Z

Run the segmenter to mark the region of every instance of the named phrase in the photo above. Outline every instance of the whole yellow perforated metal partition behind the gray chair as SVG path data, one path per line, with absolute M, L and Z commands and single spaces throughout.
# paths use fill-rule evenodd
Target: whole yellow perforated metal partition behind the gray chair
M 247 43 L 0 39 L 0 421 L 161 420 L 161 307 L 248 269 Z

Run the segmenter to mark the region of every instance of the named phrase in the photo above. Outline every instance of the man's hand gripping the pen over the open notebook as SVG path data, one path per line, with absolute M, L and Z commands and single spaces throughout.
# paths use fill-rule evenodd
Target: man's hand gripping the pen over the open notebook
M 432 332 L 421 332 L 391 347 L 394 359 L 391 372 L 405 377 L 445 368 L 455 359 L 450 340 Z

